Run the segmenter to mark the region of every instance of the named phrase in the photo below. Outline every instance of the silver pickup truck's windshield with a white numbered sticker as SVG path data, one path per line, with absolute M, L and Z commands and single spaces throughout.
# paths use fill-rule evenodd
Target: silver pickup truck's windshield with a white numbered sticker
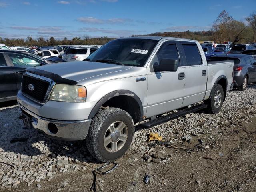
M 151 39 L 112 40 L 86 60 L 142 67 L 156 43 L 157 40 Z

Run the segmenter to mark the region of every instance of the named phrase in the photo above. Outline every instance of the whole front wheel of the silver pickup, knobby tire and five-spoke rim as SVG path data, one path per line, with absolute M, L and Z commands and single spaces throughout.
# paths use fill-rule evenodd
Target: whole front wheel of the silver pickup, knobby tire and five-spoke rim
M 130 114 L 119 108 L 107 108 L 93 118 L 86 146 L 94 158 L 112 162 L 125 154 L 133 135 L 134 122 Z

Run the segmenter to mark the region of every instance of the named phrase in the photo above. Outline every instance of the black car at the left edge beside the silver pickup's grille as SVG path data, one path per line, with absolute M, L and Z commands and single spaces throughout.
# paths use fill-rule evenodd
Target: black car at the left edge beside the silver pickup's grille
M 15 100 L 26 68 L 45 65 L 32 55 L 14 50 L 0 50 L 0 102 Z

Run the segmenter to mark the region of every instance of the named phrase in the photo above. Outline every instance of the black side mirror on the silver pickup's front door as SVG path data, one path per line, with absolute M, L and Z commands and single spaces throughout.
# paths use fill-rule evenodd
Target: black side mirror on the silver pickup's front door
M 162 59 L 159 65 L 153 65 L 154 72 L 177 71 L 178 59 Z

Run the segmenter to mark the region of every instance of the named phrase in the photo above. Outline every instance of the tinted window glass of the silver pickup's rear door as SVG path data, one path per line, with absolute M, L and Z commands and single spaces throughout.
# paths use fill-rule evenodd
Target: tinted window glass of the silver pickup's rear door
M 186 56 L 186 65 L 200 65 L 202 59 L 196 44 L 182 44 Z

